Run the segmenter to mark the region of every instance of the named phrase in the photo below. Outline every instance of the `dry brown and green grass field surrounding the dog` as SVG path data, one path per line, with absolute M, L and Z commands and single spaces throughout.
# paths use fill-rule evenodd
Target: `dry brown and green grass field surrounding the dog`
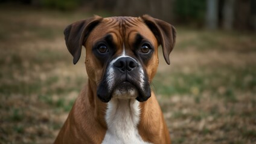
M 87 80 L 62 31 L 85 18 L 1 6 L 0 143 L 53 142 Z M 255 34 L 177 29 L 152 84 L 173 143 L 255 143 Z

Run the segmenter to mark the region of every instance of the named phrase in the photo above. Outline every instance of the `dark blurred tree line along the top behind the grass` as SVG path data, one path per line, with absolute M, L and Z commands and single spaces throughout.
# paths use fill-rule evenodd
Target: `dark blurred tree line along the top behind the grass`
M 256 0 L 0 0 L 57 10 L 85 9 L 116 16 L 150 14 L 170 23 L 210 29 L 255 29 Z M 109 15 L 109 14 L 108 14 Z

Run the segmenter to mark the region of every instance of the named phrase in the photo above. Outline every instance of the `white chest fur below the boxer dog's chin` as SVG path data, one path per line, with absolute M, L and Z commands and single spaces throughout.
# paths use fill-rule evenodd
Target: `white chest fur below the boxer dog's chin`
M 102 143 L 147 143 L 138 133 L 139 116 L 138 101 L 112 98 L 107 103 L 107 132 Z

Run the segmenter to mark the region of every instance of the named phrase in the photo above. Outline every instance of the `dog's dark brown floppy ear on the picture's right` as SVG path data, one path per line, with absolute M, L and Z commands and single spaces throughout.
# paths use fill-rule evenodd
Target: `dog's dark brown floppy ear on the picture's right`
M 176 41 L 176 30 L 175 28 L 167 22 L 159 19 L 155 19 L 149 15 L 141 16 L 144 23 L 153 32 L 158 43 L 162 46 L 162 52 L 164 54 L 164 59 L 167 64 L 170 64 L 169 55 L 171 50 L 173 50 Z

